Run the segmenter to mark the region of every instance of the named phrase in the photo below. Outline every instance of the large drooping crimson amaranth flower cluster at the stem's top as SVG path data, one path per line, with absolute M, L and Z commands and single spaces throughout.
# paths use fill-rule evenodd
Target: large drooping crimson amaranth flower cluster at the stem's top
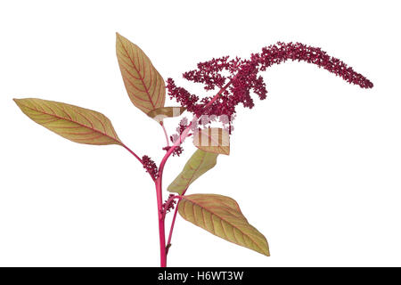
M 228 56 L 224 56 L 201 62 L 197 66 L 198 69 L 183 74 L 185 79 L 203 84 L 207 91 L 220 88 L 217 97 L 206 96 L 200 100 L 197 95 L 176 86 L 171 78 L 168 78 L 168 94 L 198 118 L 201 115 L 226 115 L 232 118 L 235 107 L 240 103 L 246 108 L 253 108 L 254 102 L 250 93 L 257 94 L 260 100 L 266 99 L 266 84 L 259 72 L 288 60 L 315 64 L 362 88 L 373 86 L 366 77 L 320 48 L 300 43 L 279 42 L 264 47 L 261 53 L 251 54 L 249 60 L 239 58 L 229 60 Z M 208 108 L 205 108 L 205 105 Z

